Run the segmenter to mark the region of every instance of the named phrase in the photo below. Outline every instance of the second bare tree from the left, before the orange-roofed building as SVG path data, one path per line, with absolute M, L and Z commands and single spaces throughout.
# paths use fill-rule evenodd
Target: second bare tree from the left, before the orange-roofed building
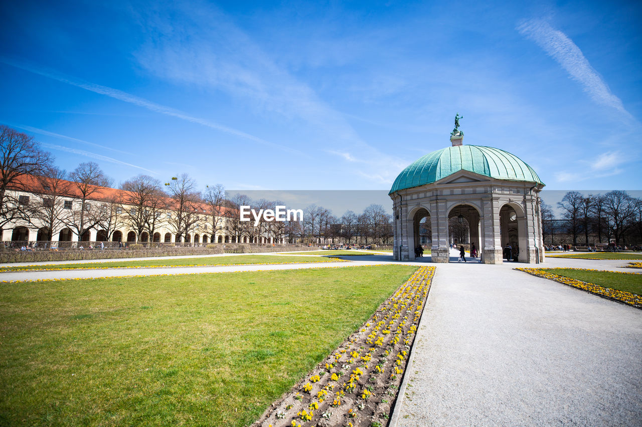
M 42 203 L 33 203 L 30 206 L 30 218 L 32 224 L 38 222 L 48 230 L 46 240 L 53 240 L 53 232 L 63 224 L 65 196 L 69 195 L 70 184 L 66 178 L 67 172 L 56 167 L 35 177 Z

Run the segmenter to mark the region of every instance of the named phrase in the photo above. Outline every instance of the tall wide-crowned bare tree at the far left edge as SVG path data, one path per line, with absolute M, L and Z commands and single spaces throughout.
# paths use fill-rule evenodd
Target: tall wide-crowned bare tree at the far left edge
M 0 239 L 6 224 L 28 217 L 28 206 L 7 190 L 30 190 L 28 177 L 42 175 L 52 162 L 33 137 L 0 125 Z

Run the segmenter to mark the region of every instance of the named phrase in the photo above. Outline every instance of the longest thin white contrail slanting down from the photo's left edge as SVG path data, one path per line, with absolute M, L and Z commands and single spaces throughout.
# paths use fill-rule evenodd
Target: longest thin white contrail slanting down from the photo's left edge
M 10 58 L 4 58 L 0 57 L 0 62 L 6 63 L 6 65 L 11 65 L 12 67 L 22 69 L 24 71 L 29 71 L 33 72 L 34 74 L 39 74 L 40 76 L 45 76 L 48 78 L 51 78 L 53 80 L 58 80 L 62 81 L 63 83 L 67 83 L 69 85 L 75 86 L 75 87 L 80 87 L 85 90 L 89 90 L 91 92 L 95 92 L 96 94 L 101 94 L 105 95 L 108 97 L 112 97 L 114 99 L 119 99 L 120 101 L 124 101 L 126 103 L 130 103 L 133 105 L 137 105 L 143 108 L 146 108 L 148 110 L 151 110 L 153 112 L 161 113 L 164 115 L 169 115 L 171 117 L 177 117 L 178 119 L 196 123 L 196 124 L 201 124 L 202 126 L 207 126 L 208 128 L 218 130 L 221 132 L 229 133 L 230 135 L 234 135 L 236 137 L 240 138 L 245 138 L 254 142 L 257 142 L 259 144 L 263 144 L 265 146 L 270 146 L 278 149 L 282 149 L 284 151 L 289 151 L 291 153 L 299 153 L 303 154 L 298 150 L 291 149 L 290 147 L 285 147 L 281 146 L 279 144 L 275 144 L 273 142 L 266 141 L 262 138 L 255 137 L 254 135 L 250 135 L 249 133 L 245 133 L 243 131 L 236 130 L 234 128 L 229 128 L 228 126 L 223 126 L 222 124 L 218 124 L 206 119 L 202 119 L 200 117 L 194 117 L 192 115 L 189 115 L 187 113 L 181 112 L 180 110 L 176 110 L 175 108 L 171 108 L 169 106 L 165 105 L 160 105 L 157 103 L 154 103 L 152 101 L 148 101 L 147 99 L 141 98 L 134 96 L 132 94 L 128 94 L 127 92 L 123 92 L 122 90 L 118 90 L 115 88 L 110 88 L 107 86 L 102 86 L 98 85 L 96 83 L 91 83 L 89 81 L 84 81 L 80 79 L 76 79 L 73 77 L 69 76 L 64 76 L 58 72 L 40 68 L 40 67 L 35 67 L 33 65 L 29 65 L 26 63 L 22 63 L 16 60 L 12 60 Z

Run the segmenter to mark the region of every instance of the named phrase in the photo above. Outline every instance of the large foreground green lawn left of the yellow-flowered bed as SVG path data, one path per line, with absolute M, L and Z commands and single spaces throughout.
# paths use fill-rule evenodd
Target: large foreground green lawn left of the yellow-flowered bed
M 415 269 L 0 283 L 0 425 L 251 424 Z

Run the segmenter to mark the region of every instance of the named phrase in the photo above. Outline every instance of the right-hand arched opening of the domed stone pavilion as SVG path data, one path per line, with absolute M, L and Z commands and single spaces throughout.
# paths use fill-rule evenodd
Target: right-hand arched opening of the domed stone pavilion
M 506 204 L 499 210 L 499 239 L 506 261 L 528 262 L 526 221 L 519 205 Z

